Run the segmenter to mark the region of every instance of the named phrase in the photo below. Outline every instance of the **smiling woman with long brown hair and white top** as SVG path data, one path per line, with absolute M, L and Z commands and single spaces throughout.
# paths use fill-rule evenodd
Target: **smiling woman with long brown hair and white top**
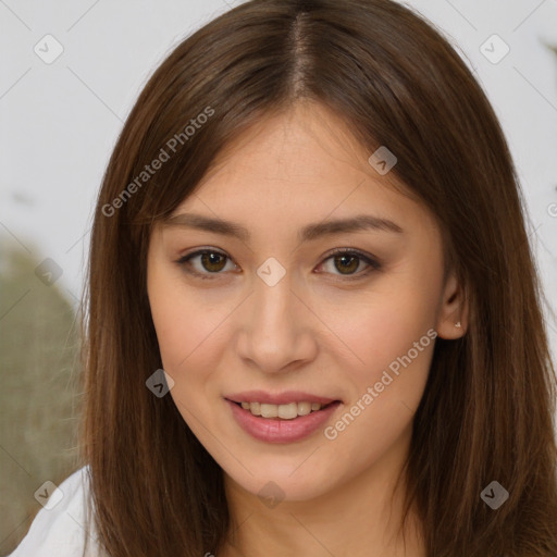
M 557 555 L 522 207 L 485 95 L 408 9 L 210 22 L 107 169 L 84 468 L 14 555 L 69 517 L 112 557 Z

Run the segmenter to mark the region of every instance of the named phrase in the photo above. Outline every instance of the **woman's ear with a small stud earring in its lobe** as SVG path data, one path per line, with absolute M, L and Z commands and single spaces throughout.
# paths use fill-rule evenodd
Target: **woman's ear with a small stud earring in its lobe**
M 437 335 L 454 341 L 468 330 L 468 300 L 465 289 L 451 272 L 445 282 L 437 313 Z

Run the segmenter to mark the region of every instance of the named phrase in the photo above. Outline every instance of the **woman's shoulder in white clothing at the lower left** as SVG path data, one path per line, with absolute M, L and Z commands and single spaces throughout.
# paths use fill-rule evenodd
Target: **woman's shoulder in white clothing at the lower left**
M 96 532 L 86 532 L 86 505 L 89 468 L 84 466 L 67 476 L 58 488 L 45 486 L 48 499 L 39 510 L 29 531 L 8 557 L 82 557 L 85 536 L 89 536 L 87 557 L 96 557 Z M 39 498 L 41 493 L 37 493 Z M 91 529 L 95 527 L 91 525 Z

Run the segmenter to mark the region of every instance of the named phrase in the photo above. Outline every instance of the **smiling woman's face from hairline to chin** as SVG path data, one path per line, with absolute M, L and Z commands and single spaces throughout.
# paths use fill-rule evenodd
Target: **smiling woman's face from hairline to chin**
M 170 396 L 246 492 L 273 481 L 309 500 L 393 462 L 435 336 L 462 332 L 433 218 L 370 154 L 326 109 L 293 109 L 238 137 L 152 232 L 148 295 Z M 356 216 L 368 226 L 322 226 Z M 323 407 L 307 414 L 313 399 Z

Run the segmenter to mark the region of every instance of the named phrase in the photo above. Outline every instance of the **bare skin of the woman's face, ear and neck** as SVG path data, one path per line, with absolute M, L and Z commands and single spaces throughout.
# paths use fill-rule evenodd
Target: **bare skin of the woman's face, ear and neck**
M 434 342 L 334 440 L 318 430 L 289 444 L 257 441 L 223 400 L 250 388 L 330 396 L 343 400 L 331 425 L 428 330 L 443 338 L 465 334 L 462 292 L 453 273 L 443 281 L 433 216 L 396 191 L 394 174 L 380 175 L 370 154 L 334 113 L 298 104 L 237 137 L 174 212 L 238 222 L 249 230 L 248 242 L 180 226 L 152 232 L 148 295 L 163 367 L 174 381 L 170 394 L 222 467 L 237 524 L 219 557 L 425 555 L 413 512 L 405 553 L 397 534 L 403 492 L 392 490 Z M 361 213 L 389 219 L 404 233 L 298 243 L 306 224 Z M 199 248 L 230 259 L 176 263 Z M 382 267 L 357 259 L 343 273 L 334 248 L 362 251 Z M 270 257 L 286 271 L 272 287 L 257 274 Z M 284 494 L 272 508 L 258 496 L 270 481 Z

